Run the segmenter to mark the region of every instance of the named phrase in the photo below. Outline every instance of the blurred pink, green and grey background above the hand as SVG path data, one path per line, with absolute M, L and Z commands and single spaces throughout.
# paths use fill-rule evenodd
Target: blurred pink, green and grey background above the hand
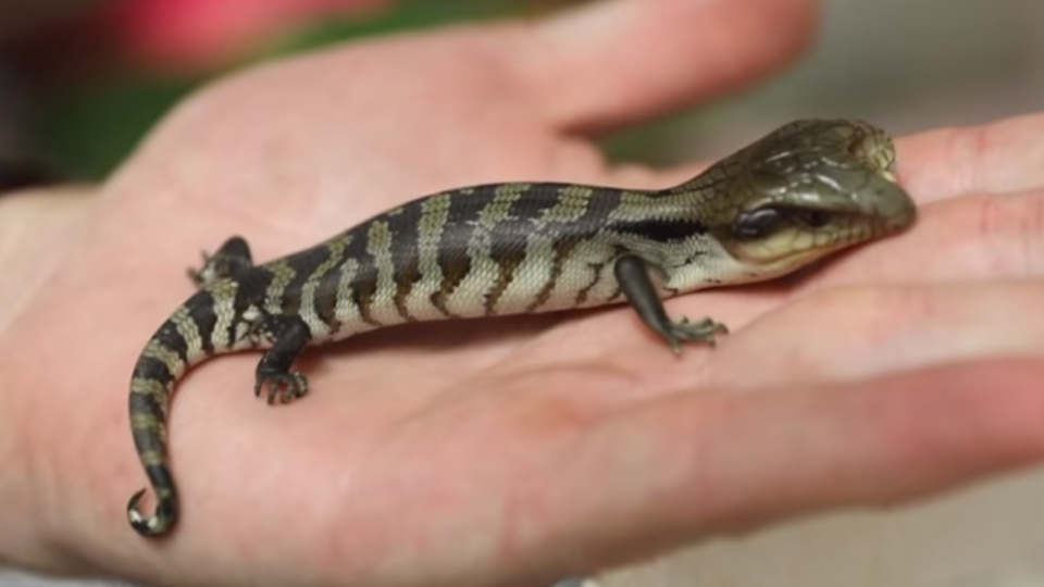
M 100 179 L 179 98 L 229 70 L 584 1 L 0 0 L 0 159 Z M 804 115 L 865 116 L 903 133 L 1041 105 L 1040 0 L 822 3 L 819 42 L 796 68 L 744 96 L 609 137 L 610 155 L 710 157 Z

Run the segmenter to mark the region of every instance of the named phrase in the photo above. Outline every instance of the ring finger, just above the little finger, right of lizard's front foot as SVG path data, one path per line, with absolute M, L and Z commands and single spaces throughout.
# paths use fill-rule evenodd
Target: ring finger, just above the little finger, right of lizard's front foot
M 977 358 L 1044 360 L 1041 299 L 1044 283 L 1029 280 L 824 290 L 736 333 L 718 349 L 708 379 L 755 389 Z M 750 357 L 758 369 L 749 367 Z

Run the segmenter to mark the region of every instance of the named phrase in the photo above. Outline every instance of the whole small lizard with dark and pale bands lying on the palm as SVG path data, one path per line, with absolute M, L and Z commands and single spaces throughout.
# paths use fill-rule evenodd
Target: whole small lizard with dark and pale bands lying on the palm
M 432 193 L 328 240 L 254 264 L 234 236 L 199 271 L 197 290 L 148 340 L 129 391 L 130 428 L 156 497 L 142 536 L 166 534 L 179 502 L 167 460 L 178 379 L 223 353 L 262 349 L 253 390 L 270 404 L 303 397 L 293 370 L 310 346 L 394 324 L 630 303 L 679 354 L 728 333 L 711 317 L 672 319 L 663 300 L 762 282 L 910 226 L 916 205 L 881 128 L 798 120 L 662 189 L 500 183 Z

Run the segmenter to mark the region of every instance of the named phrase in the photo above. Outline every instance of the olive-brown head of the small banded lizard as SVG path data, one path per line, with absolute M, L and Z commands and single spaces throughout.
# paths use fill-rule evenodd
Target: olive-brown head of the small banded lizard
M 916 207 L 894 165 L 892 139 L 867 123 L 787 124 L 716 165 L 731 177 L 716 214 L 718 241 L 768 278 L 898 233 Z

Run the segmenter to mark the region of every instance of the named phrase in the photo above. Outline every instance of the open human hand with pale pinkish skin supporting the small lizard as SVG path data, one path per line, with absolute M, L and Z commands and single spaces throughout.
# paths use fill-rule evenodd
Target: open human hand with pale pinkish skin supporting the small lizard
M 171 414 L 181 522 L 163 540 L 127 525 L 130 369 L 199 249 L 241 234 L 266 260 L 480 182 L 669 185 L 698 165 L 609 166 L 588 135 L 781 67 L 815 13 L 616 0 L 337 48 L 201 91 L 97 193 L 0 200 L 0 229 L 34 228 L 0 240 L 0 560 L 164 585 L 532 586 L 1039 462 L 1032 115 L 903 138 L 908 233 L 670 301 L 733 328 L 714 349 L 675 358 L 626 308 L 417 325 L 310 353 L 311 395 L 277 408 L 251 395 L 257 353 L 206 363 Z

